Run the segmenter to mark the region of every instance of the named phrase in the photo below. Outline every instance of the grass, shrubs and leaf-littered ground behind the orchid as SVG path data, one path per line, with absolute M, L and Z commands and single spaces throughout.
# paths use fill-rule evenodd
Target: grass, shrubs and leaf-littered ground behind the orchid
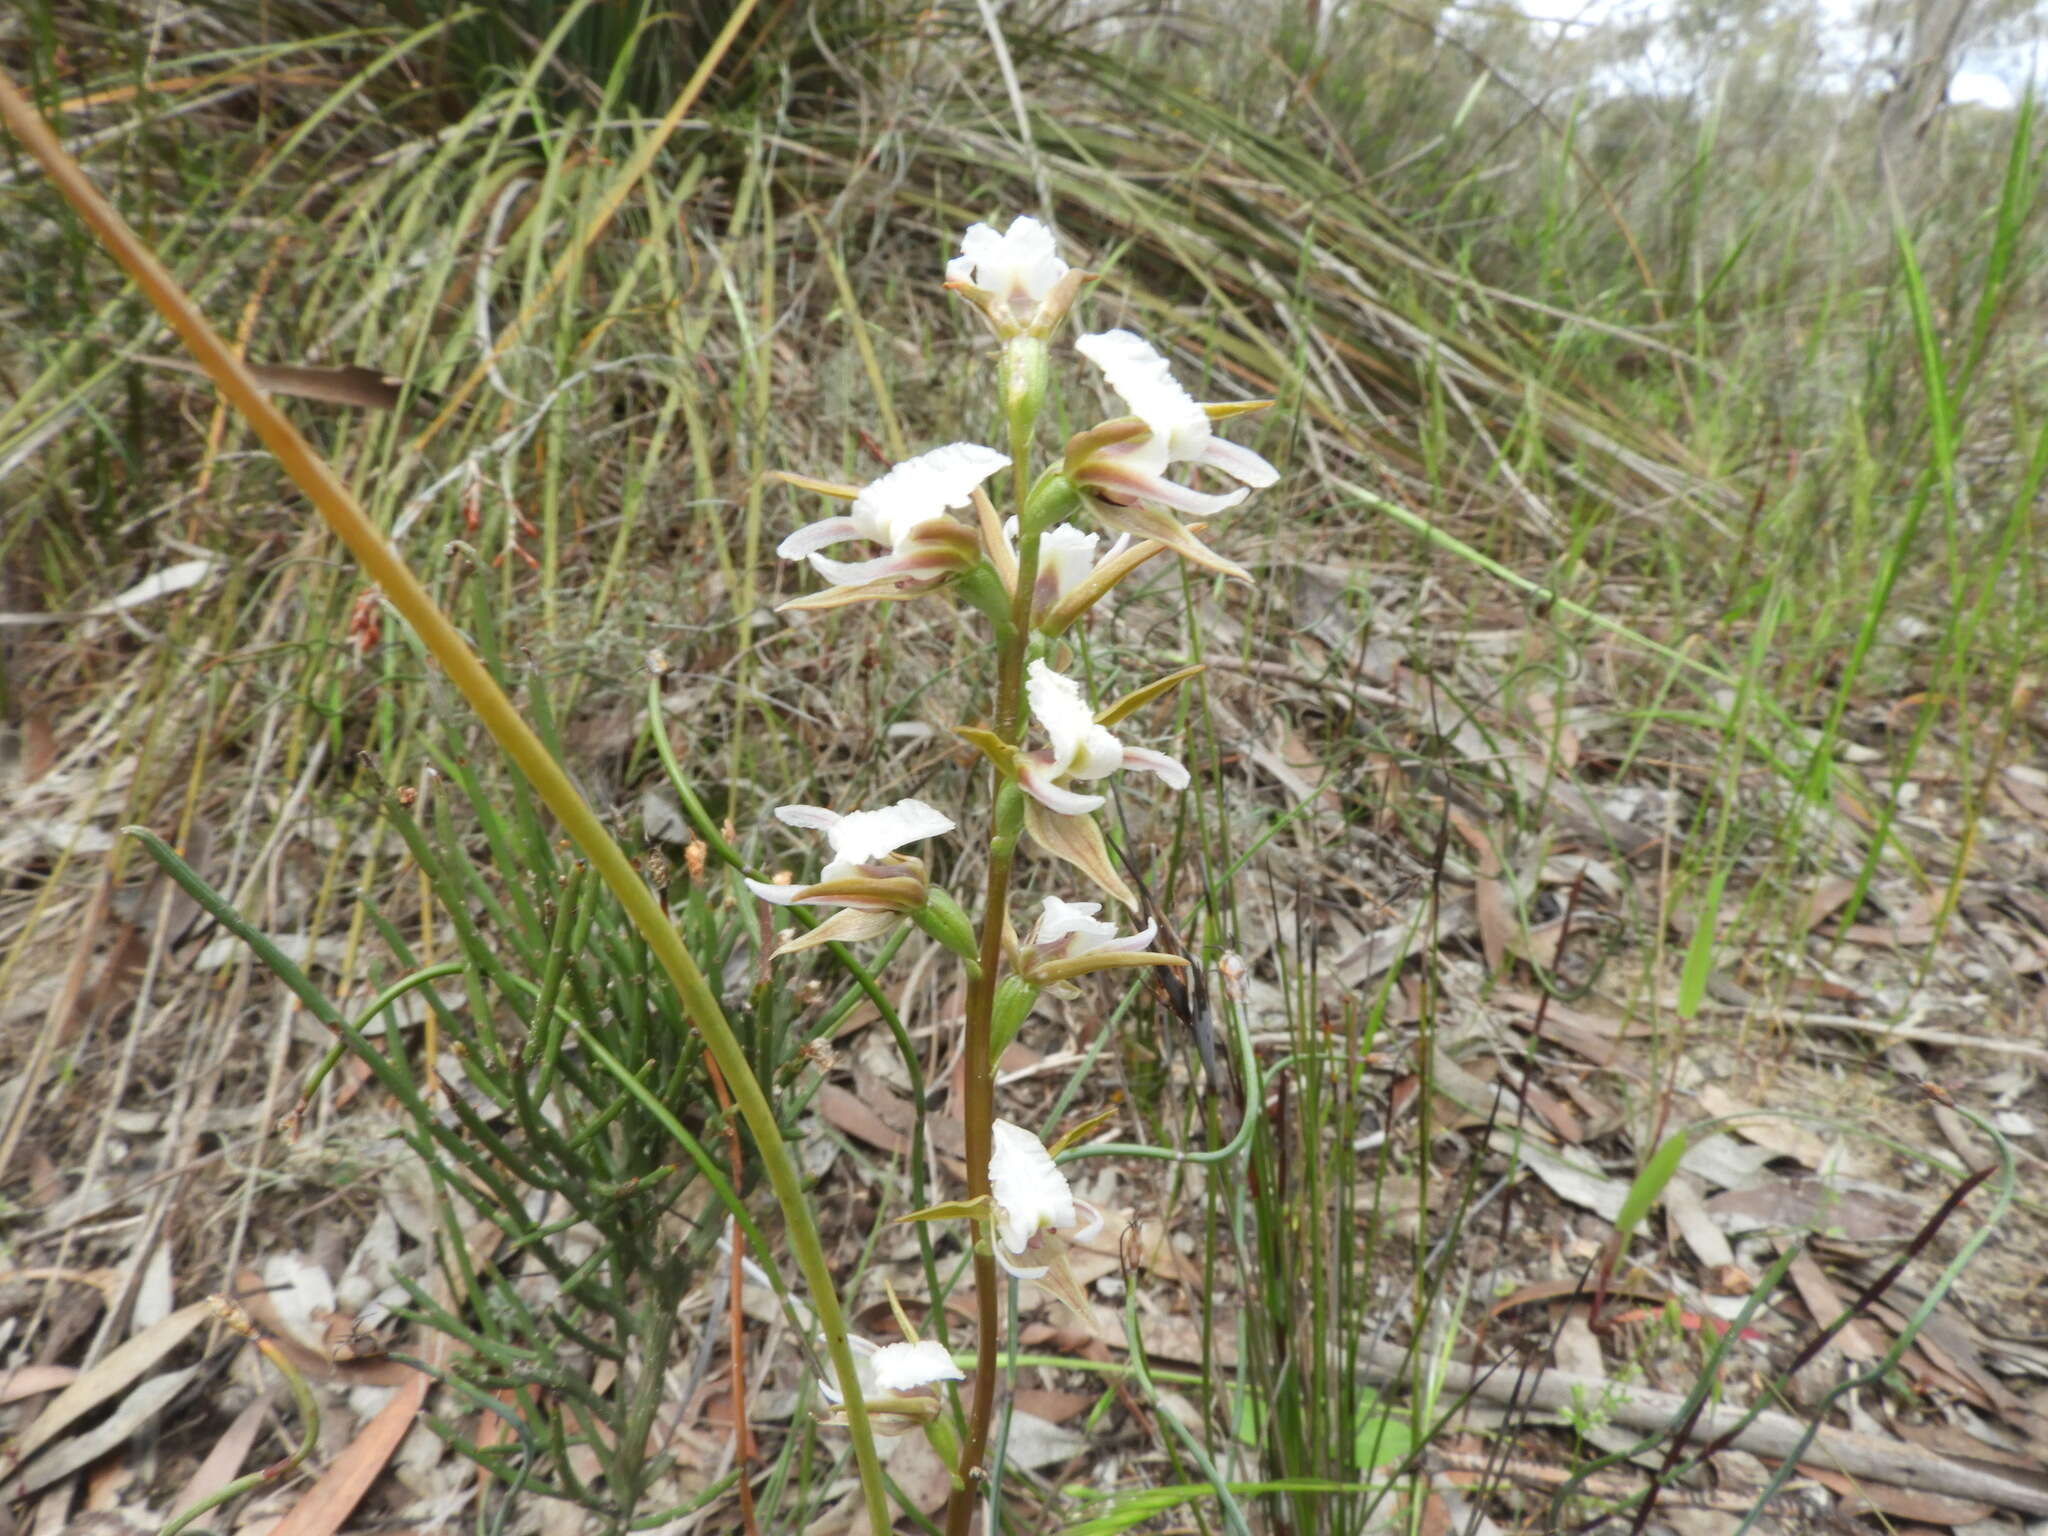
M 770 551 L 809 508 L 762 475 L 987 438 L 983 340 L 934 279 L 1016 211 L 1104 274 L 1090 324 L 1192 338 L 1204 399 L 1274 397 L 1237 436 L 1286 479 L 1225 541 L 1257 590 L 1161 571 L 1085 651 L 1110 692 L 1210 668 L 1174 725 L 1198 788 L 1133 799 L 1124 836 L 1190 952 L 1243 956 L 1214 1026 L 1268 1094 L 1210 1092 L 1208 1018 L 1171 997 L 1026 1026 L 1047 1124 L 1114 1108 L 1116 1141 L 1235 1151 L 1071 1169 L 1137 1237 L 1094 1276 L 1098 1339 L 1053 1307 L 1016 1341 L 1001 1507 L 1542 1530 L 1677 1462 L 1595 1473 L 1640 1440 L 1604 1399 L 1454 1419 L 1436 1364 L 1683 1393 L 1741 1313 L 1745 1391 L 1810 1421 L 1870 1372 L 1888 1423 L 1960 1401 L 2007 1454 L 2048 1444 L 2038 1202 L 1985 1186 L 1935 1223 L 2048 1124 L 2042 152 L 2025 104 L 1886 139 L 1876 82 L 1798 68 L 1817 27 L 1675 10 L 1683 88 L 1653 92 L 1645 31 L 1450 8 L 37 0 L 0 63 L 252 358 L 360 371 L 377 408 L 301 399 L 301 428 L 666 883 L 874 1333 L 885 1278 L 946 1325 L 958 1255 L 877 1217 L 952 1182 L 958 997 L 922 938 L 887 991 L 766 973 L 707 834 L 776 866 L 774 803 L 961 799 L 981 657 L 934 604 L 879 641 L 778 618 Z M 807 1417 L 801 1329 L 717 1257 L 713 1176 L 766 1204 L 645 956 L 33 164 L 0 178 L 8 1366 L 268 1296 L 324 1378 L 315 1470 L 373 1442 L 348 1393 L 397 1380 L 383 1346 L 442 1370 L 412 1409 L 485 1462 L 422 1430 L 358 1522 L 831 1528 L 844 1436 Z M 303 1102 L 317 1010 L 131 823 L 367 1030 Z M 559 995 L 604 1024 L 582 1053 L 549 1044 Z M 514 1087 L 549 1049 L 553 1118 Z M 1673 1128 L 1757 1108 L 1630 1233 Z M 1686 1225 L 1714 1188 L 1751 1196 L 1708 1223 L 1724 1264 Z M 1905 1298 L 1815 1384 L 1802 1346 L 1894 1255 Z M 1573 1294 L 1602 1262 L 1618 1329 Z M 1950 1366 L 1909 1354 L 1921 1298 L 1974 1329 Z M 414 1321 L 379 1335 L 391 1307 Z M 6 1409 L 20 1507 L 160 1522 L 238 1415 L 240 1456 L 283 1454 L 289 1423 L 252 1450 L 260 1374 L 188 1335 L 55 1427 Z M 1688 1497 L 1733 1522 L 1743 1489 L 1722 1460 Z M 311 1520 L 301 1495 L 233 1522 Z

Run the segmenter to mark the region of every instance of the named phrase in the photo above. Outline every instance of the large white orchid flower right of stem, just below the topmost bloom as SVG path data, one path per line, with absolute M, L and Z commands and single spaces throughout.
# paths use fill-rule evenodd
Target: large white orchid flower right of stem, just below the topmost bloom
M 1249 406 L 1202 406 L 1174 379 L 1171 365 L 1135 332 L 1106 330 L 1083 336 L 1075 348 L 1102 369 L 1130 414 L 1081 432 L 1067 444 L 1067 477 L 1079 485 L 1110 528 L 1139 539 L 1157 539 L 1174 553 L 1223 575 L 1249 582 L 1251 575 L 1217 555 L 1182 524 L 1176 512 L 1212 518 L 1280 479 L 1251 449 L 1225 442 L 1212 422 L 1237 416 Z M 1227 496 L 1204 496 L 1165 477 L 1171 465 L 1206 465 L 1235 481 Z

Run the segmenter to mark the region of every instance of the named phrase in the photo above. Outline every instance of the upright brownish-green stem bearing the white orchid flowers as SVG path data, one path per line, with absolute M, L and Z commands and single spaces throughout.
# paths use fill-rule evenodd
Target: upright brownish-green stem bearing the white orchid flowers
M 1042 352 L 1042 342 L 1038 344 Z M 1040 387 L 1042 397 L 1042 387 Z M 1010 401 L 1006 401 L 1008 406 Z M 1036 401 L 1028 410 L 1008 410 L 1012 496 L 1018 508 L 1018 580 L 1010 594 L 1010 629 L 997 629 L 995 735 L 1006 745 L 1024 741 L 1024 662 L 1030 657 L 1030 602 L 1038 586 L 1040 528 L 1024 516 L 1030 494 L 1030 436 Z M 981 975 L 967 985 L 967 1198 L 991 1196 L 989 1155 L 995 1151 L 995 987 L 1004 967 L 1004 928 L 1010 920 L 1010 870 L 1016 862 L 1018 831 L 1001 825 L 1008 782 L 991 768 L 989 788 L 989 889 L 981 907 Z M 961 1452 L 961 1481 L 946 1503 L 946 1536 L 967 1536 L 981 1495 L 981 1462 L 989 1452 L 989 1419 L 995 1413 L 995 1374 L 1001 1354 L 1004 1282 L 995 1268 L 989 1233 L 975 1237 L 975 1395 L 967 1411 L 967 1446 Z

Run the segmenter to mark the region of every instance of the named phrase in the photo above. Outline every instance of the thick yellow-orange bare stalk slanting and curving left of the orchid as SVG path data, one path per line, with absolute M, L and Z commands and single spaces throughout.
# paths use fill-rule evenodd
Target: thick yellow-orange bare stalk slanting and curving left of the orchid
M 256 383 L 242 358 L 221 340 L 219 332 L 199 311 L 199 305 L 190 301 L 150 248 L 135 238 L 135 231 L 115 213 L 113 205 L 100 197 L 98 188 L 92 186 L 78 162 L 66 154 L 57 135 L 49 131 L 41 115 L 37 115 L 35 106 L 6 74 L 0 74 L 0 121 L 41 162 L 51 184 L 63 193 L 63 199 L 78 217 L 84 219 L 109 254 L 135 279 L 135 285 L 156 305 L 158 313 L 164 315 L 164 322 L 178 332 L 178 340 L 184 342 L 193 360 L 205 369 L 215 387 L 242 412 L 256 436 L 262 438 L 262 444 L 276 455 L 285 473 L 319 508 L 319 516 L 348 545 L 362 571 L 383 590 L 385 600 L 397 608 L 406 623 L 412 625 L 426 649 L 434 653 L 449 680 L 461 688 L 471 709 L 477 711 L 498 748 L 526 776 L 526 782 L 532 784 L 547 809 L 555 813 L 563 831 L 569 834 L 584 858 L 598 872 L 598 879 L 610 887 L 618 905 L 633 920 L 647 948 L 668 973 L 670 985 L 676 987 L 676 995 L 690 1022 L 702 1034 L 705 1049 L 711 1051 L 719 1063 L 719 1071 L 725 1073 L 739 1114 L 754 1133 L 754 1145 L 760 1151 L 776 1204 L 782 1208 L 791 1253 L 811 1290 L 811 1309 L 817 1315 L 819 1331 L 825 1335 L 831 1364 L 840 1372 L 840 1380 L 856 1380 L 854 1354 L 846 1341 L 846 1317 L 840 1311 L 840 1298 L 834 1290 L 831 1270 L 825 1264 L 825 1247 L 819 1241 L 817 1223 L 803 1194 L 797 1159 L 782 1141 L 774 1106 L 762 1092 L 760 1081 L 756 1081 L 745 1051 L 719 1010 L 719 999 L 696 969 L 696 961 L 684 948 L 682 936 L 662 911 L 662 903 L 653 891 L 641 881 L 618 844 L 612 842 L 596 811 L 575 791 L 575 784 L 541 743 L 541 737 L 520 719 L 512 700 L 504 696 L 504 690 L 485 670 L 483 662 L 463 641 L 461 631 L 449 623 L 449 616 L 428 596 L 426 588 L 420 586 L 420 580 L 406 561 L 362 514 L 362 508 L 340 475 L 299 436 L 285 414 L 270 403 L 270 397 Z M 1032 553 L 1036 557 L 1036 551 Z M 1028 590 L 1024 588 L 1024 592 Z M 1022 662 L 1018 662 L 1016 670 L 1022 670 Z M 983 1018 L 987 1016 L 983 1014 Z M 985 1122 L 983 1137 L 987 1137 Z M 881 1460 L 874 1454 L 874 1434 L 868 1427 L 868 1415 L 858 1393 L 846 1395 L 846 1419 L 854 1440 L 854 1458 L 860 1464 L 868 1524 L 877 1532 L 889 1530 L 889 1503 L 883 1493 Z

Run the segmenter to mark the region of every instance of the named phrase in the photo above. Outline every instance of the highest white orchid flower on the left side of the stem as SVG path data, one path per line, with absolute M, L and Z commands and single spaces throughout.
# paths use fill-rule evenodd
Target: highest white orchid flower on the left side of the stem
M 946 516 L 975 500 L 975 489 L 1004 469 L 1010 457 L 977 442 L 948 442 L 944 449 L 905 459 L 864 489 L 797 481 L 827 496 L 852 500 L 844 518 L 825 518 L 797 528 L 776 545 L 782 559 L 809 557 L 811 567 L 831 586 L 825 592 L 784 602 L 782 608 L 840 608 L 848 602 L 891 602 L 915 598 L 981 559 L 981 535 Z M 887 545 L 877 559 L 840 561 L 819 549 L 866 539 Z

